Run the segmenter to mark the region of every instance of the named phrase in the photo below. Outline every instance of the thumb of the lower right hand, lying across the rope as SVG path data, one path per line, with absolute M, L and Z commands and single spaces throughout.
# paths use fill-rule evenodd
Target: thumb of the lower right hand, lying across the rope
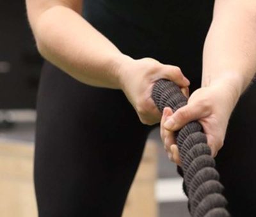
M 172 116 L 168 117 L 164 123 L 164 128 L 170 131 L 176 131 L 185 126 L 187 123 L 209 116 L 211 111 L 204 106 L 190 103 L 179 108 Z

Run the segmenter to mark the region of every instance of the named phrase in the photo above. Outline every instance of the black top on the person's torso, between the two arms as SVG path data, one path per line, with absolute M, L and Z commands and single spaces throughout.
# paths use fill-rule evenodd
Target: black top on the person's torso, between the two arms
M 201 82 L 213 4 L 214 0 L 85 0 L 84 18 L 124 54 L 179 66 L 195 89 Z

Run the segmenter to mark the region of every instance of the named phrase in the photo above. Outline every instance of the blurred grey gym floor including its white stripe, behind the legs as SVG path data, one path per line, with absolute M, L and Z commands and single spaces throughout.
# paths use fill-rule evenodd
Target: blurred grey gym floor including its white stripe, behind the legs
M 18 120 L 10 128 L 0 128 L 0 138 L 34 141 L 35 111 L 13 112 L 12 117 Z M 159 217 L 189 217 L 187 200 L 182 192 L 182 179 L 176 173 L 176 167 L 168 160 L 159 137 L 159 128 L 153 130 L 149 138 L 157 142 L 158 167 L 155 185 L 156 199 L 159 207 Z

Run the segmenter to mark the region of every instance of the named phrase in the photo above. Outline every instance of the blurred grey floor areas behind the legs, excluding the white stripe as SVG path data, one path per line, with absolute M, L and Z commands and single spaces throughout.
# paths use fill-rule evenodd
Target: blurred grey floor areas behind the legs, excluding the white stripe
M 158 180 L 172 180 L 179 177 L 176 173 L 176 167 L 171 163 L 163 149 L 163 144 L 159 138 L 159 129 L 150 133 L 150 138 L 157 141 L 157 154 L 158 154 Z M 17 123 L 10 128 L 3 128 L 0 125 L 0 138 L 8 138 L 14 140 L 23 140 L 33 142 L 35 140 L 35 123 Z M 176 188 L 181 188 L 177 186 Z M 159 202 L 159 217 L 188 217 L 188 209 L 186 201 L 171 201 L 164 200 Z

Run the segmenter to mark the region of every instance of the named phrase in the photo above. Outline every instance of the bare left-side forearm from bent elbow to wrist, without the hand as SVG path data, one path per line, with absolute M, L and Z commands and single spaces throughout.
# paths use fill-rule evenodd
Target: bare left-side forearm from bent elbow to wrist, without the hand
M 31 26 L 45 59 L 85 84 L 120 88 L 116 68 L 127 56 L 76 11 L 53 6 Z

